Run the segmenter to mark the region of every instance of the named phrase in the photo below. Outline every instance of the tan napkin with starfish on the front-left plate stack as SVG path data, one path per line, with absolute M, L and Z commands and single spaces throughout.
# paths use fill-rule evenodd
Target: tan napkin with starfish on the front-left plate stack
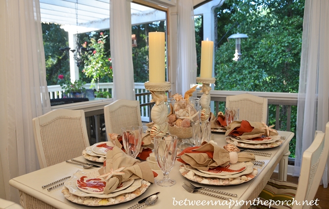
M 120 171 L 120 168 L 123 168 Z M 107 151 L 104 167 L 98 170 L 100 176 L 108 174 L 113 175 L 107 180 L 104 188 L 104 194 L 111 193 L 121 183 L 129 179 L 144 179 L 154 183 L 153 172 L 146 161 L 141 162 L 131 156 L 128 156 L 118 147 L 113 147 Z M 106 176 L 103 177 L 106 179 Z

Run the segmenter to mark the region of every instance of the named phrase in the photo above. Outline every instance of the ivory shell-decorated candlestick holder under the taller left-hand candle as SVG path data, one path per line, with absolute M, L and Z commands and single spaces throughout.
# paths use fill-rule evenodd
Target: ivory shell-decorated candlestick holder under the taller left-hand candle
M 151 109 L 151 119 L 154 122 L 150 131 L 150 137 L 153 139 L 157 135 L 165 135 L 168 131 L 168 107 L 166 91 L 170 90 L 171 83 L 166 82 L 145 82 L 145 89 L 152 94 L 151 102 L 155 105 Z

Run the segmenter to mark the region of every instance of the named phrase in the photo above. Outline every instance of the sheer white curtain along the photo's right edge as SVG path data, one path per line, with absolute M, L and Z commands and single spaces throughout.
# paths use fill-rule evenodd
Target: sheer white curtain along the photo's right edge
M 297 110 L 295 173 L 315 130 L 325 131 L 329 101 L 329 1 L 306 0 Z M 327 170 L 322 181 L 327 187 Z

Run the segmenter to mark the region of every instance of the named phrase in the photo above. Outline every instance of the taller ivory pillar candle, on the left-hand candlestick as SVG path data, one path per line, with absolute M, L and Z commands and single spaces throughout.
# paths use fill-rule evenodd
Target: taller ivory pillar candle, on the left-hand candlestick
M 148 33 L 149 82 L 165 82 L 165 33 Z

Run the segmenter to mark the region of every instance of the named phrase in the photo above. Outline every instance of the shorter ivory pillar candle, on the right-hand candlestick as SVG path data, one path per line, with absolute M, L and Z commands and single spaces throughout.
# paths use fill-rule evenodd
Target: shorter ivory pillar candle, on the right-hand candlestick
M 214 41 L 202 40 L 201 41 L 201 67 L 200 77 L 211 78 L 213 74 L 213 51 Z

